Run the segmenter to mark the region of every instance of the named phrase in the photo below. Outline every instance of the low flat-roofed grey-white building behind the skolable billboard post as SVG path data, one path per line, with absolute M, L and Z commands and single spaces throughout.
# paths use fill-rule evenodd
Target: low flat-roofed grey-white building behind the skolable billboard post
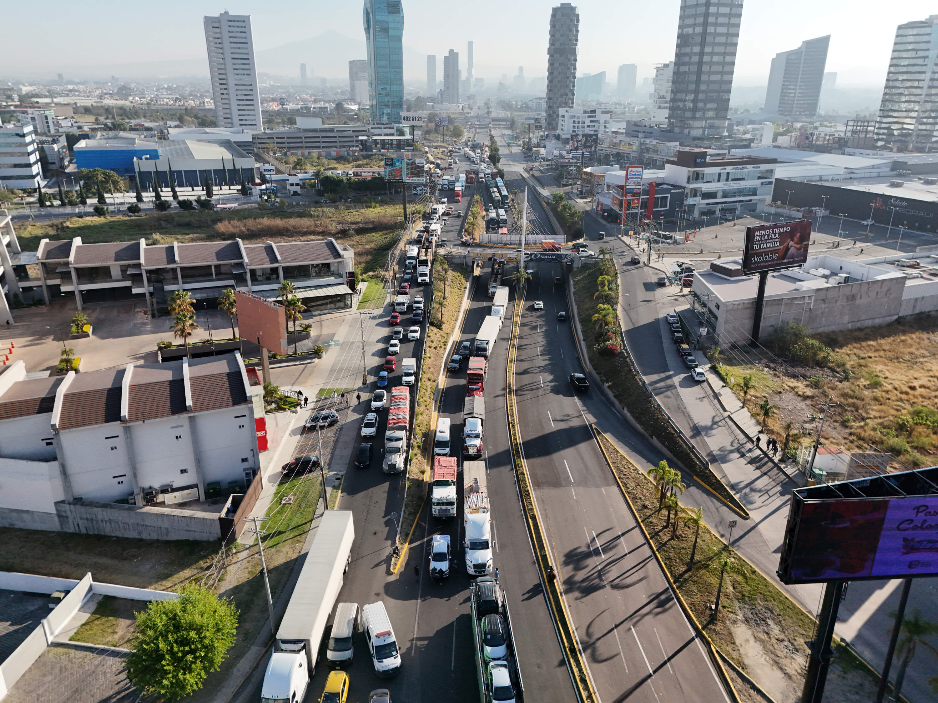
M 760 337 L 789 322 L 809 333 L 869 327 L 938 309 L 938 267 L 930 255 L 855 261 L 809 256 L 803 268 L 768 275 Z M 691 295 L 702 325 L 727 346 L 749 340 L 759 277 L 743 274 L 739 260 L 710 263 L 694 274 Z

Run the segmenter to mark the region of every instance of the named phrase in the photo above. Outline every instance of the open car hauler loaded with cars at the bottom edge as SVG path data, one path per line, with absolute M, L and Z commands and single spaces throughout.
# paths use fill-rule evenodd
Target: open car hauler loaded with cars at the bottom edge
M 469 585 L 469 611 L 480 699 L 496 700 L 494 687 L 509 684 L 512 696 L 509 698 L 503 689 L 497 700 L 523 703 L 524 682 L 518 666 L 507 592 L 490 576 L 477 578 Z

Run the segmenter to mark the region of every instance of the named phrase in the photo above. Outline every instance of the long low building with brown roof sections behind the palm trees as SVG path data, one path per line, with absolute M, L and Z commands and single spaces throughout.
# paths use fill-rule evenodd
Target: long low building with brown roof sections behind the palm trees
M 276 298 L 293 281 L 307 307 L 348 307 L 347 281 L 355 273 L 351 247 L 334 239 L 245 245 L 240 239 L 150 246 L 136 242 L 83 244 L 81 237 L 43 239 L 37 252 L 40 285 L 47 302 L 61 294 L 83 303 L 145 299 L 155 313 L 174 291 L 215 300 L 226 288 Z

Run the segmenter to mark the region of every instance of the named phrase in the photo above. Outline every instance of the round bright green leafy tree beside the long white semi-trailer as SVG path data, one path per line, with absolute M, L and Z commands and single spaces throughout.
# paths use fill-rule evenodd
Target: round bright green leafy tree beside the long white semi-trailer
M 174 600 L 137 613 L 127 673 L 134 686 L 165 700 L 189 696 L 218 671 L 234 645 L 234 602 L 189 585 Z

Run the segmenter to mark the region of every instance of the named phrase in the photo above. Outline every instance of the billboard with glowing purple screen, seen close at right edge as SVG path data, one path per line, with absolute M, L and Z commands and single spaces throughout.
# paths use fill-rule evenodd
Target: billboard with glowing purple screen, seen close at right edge
M 800 498 L 785 530 L 783 583 L 938 576 L 938 497 Z

